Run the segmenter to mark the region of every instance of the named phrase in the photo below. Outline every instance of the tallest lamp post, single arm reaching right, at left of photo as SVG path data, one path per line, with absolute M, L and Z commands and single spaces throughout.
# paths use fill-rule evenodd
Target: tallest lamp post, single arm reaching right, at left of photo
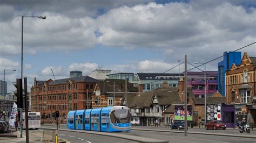
M 30 17 L 30 18 L 34 18 L 34 17 L 37 17 L 37 18 L 41 18 L 41 19 L 46 19 L 45 16 L 22 16 L 22 48 L 21 48 L 21 79 L 23 78 L 23 19 L 24 17 Z M 22 89 L 23 90 L 23 89 Z M 23 97 L 22 97 L 23 98 Z M 27 102 L 27 101 L 25 101 Z M 22 108 L 21 108 L 21 118 L 20 118 L 20 121 L 19 123 L 22 123 Z M 20 133 L 20 137 L 22 138 L 22 124 L 20 124 L 20 130 L 19 130 L 21 133 Z M 26 130 L 27 131 L 27 130 Z M 26 142 L 28 142 L 29 140 L 27 140 L 29 137 L 28 133 L 26 133 Z

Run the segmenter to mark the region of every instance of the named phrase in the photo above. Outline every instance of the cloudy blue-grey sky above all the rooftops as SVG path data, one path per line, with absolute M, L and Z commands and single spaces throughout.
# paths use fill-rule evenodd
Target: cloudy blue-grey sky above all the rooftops
M 207 62 L 256 41 L 256 1 L 5 1 L 0 0 L 0 80 L 21 77 L 22 16 L 23 77 L 68 78 L 69 71 L 90 75 L 95 69 L 112 73 L 163 73 L 184 61 Z M 241 50 L 256 56 L 256 44 Z M 206 70 L 218 70 L 218 62 Z M 188 66 L 188 69 L 192 66 Z M 204 69 L 204 66 L 200 67 Z M 167 73 L 181 73 L 184 65 Z M 30 91 L 30 89 L 29 89 Z

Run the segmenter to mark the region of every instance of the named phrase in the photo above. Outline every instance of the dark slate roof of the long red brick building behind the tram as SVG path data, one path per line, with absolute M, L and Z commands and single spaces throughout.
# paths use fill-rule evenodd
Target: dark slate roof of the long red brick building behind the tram
M 60 80 L 55 80 L 49 83 L 49 85 L 58 85 L 58 84 L 66 84 L 69 82 L 69 79 L 71 79 L 73 82 L 90 82 L 90 83 L 96 83 L 99 82 L 95 78 L 92 78 L 90 76 L 80 76 L 80 77 L 73 77 L 73 78 L 64 78 Z

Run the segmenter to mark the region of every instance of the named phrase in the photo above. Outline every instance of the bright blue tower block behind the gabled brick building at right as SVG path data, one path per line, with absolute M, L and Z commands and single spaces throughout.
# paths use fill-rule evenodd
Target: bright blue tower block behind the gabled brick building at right
M 232 67 L 232 64 L 239 65 L 241 52 L 224 52 L 223 61 L 218 63 L 218 91 L 225 96 L 225 72 Z

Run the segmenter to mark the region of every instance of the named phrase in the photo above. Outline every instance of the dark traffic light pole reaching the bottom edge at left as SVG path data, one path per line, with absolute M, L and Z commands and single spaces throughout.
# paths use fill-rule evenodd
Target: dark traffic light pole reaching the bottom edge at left
M 26 143 L 29 143 L 28 88 L 27 88 L 26 77 L 24 77 L 24 91 L 25 91 Z

